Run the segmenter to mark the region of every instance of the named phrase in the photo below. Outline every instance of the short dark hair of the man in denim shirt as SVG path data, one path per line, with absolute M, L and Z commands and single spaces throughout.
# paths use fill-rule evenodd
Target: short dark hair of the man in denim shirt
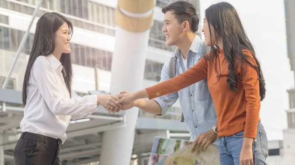
M 164 14 L 167 11 L 170 11 L 172 14 L 174 14 L 179 24 L 187 21 L 190 25 L 191 31 L 194 33 L 198 31 L 199 24 L 199 16 L 196 10 L 197 9 L 195 5 L 184 0 L 178 0 L 162 8 L 162 12 Z

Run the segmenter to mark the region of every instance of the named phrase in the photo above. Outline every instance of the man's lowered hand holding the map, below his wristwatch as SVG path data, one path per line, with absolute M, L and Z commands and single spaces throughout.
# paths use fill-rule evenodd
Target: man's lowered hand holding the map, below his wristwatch
M 216 139 L 217 134 L 213 131 L 213 129 L 199 134 L 194 141 L 195 146 L 193 147 L 192 152 L 197 151 L 197 154 L 199 154 L 201 151 L 205 151 L 210 144 L 216 141 Z

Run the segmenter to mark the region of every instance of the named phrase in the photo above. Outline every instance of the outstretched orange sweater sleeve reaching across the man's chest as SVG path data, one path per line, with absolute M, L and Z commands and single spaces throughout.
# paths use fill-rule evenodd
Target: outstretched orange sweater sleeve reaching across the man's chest
M 207 78 L 207 61 L 202 58 L 192 68 L 189 68 L 176 77 L 146 88 L 148 99 L 177 92 L 205 78 Z

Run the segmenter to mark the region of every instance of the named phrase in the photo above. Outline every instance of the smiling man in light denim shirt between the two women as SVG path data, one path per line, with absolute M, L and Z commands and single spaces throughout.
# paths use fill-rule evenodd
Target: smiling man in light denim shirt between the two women
M 201 47 L 204 41 L 196 35 L 199 18 L 196 13 L 196 7 L 182 0 L 164 7 L 162 12 L 165 14 L 162 30 L 166 34 L 166 45 L 177 46 L 173 56 L 177 56 L 176 67 L 178 75 L 193 67 L 202 58 L 201 56 L 204 56 L 204 54 L 201 54 Z M 171 78 L 169 76 L 169 64 L 170 60 L 164 64 L 160 82 Z M 196 143 L 192 151 L 197 150 L 197 153 L 200 153 L 217 138 L 217 118 L 208 90 L 207 79 L 199 81 L 177 93 L 152 100 L 139 99 L 125 104 L 124 110 L 136 106 L 150 114 L 164 116 L 178 98 L 185 123 L 190 132 L 190 141 L 195 140 L 194 142 Z

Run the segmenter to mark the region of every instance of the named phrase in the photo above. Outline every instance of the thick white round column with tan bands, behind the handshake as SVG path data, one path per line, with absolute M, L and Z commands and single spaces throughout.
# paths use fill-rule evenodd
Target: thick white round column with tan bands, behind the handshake
M 118 0 L 112 94 L 142 89 L 154 0 Z M 125 112 L 127 126 L 103 134 L 99 165 L 130 165 L 138 109 Z

